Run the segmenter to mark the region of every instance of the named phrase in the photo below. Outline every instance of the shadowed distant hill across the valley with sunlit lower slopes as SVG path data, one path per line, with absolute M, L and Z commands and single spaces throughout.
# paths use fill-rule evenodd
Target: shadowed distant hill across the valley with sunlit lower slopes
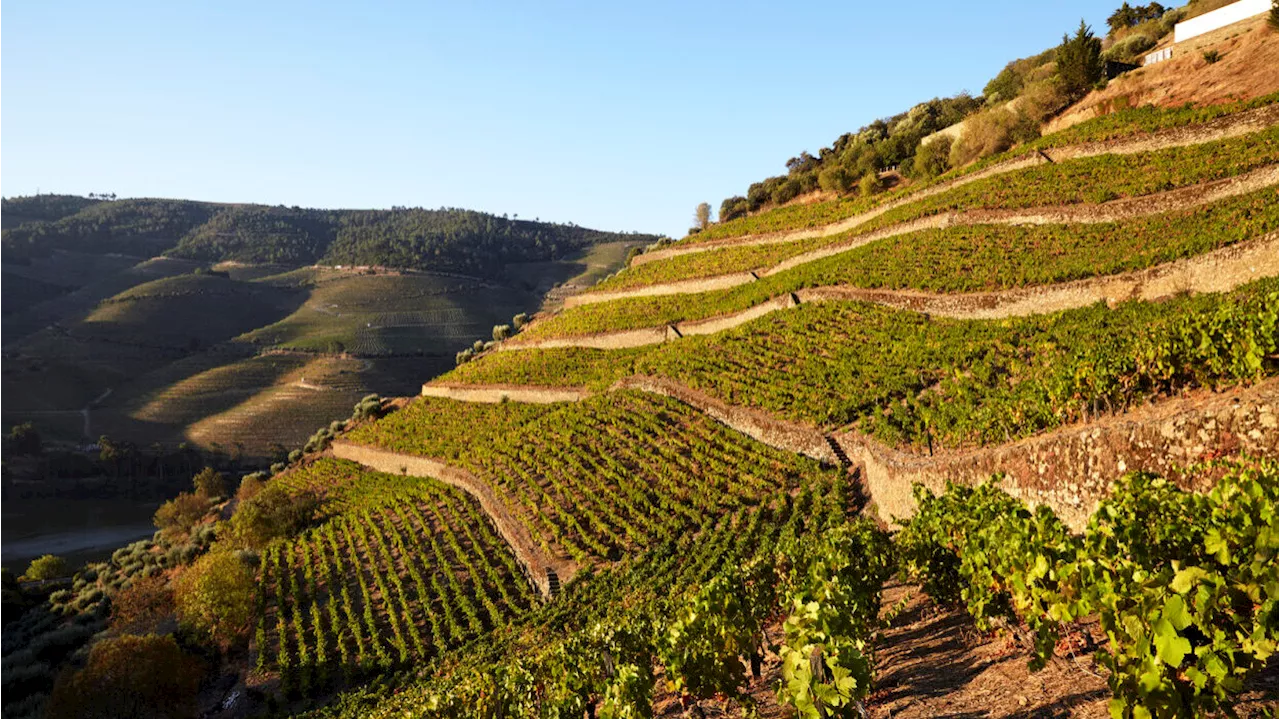
M 260 459 L 451 367 L 598 247 L 623 248 L 612 270 L 654 239 L 463 210 L 52 194 L 0 201 L 0 423 Z

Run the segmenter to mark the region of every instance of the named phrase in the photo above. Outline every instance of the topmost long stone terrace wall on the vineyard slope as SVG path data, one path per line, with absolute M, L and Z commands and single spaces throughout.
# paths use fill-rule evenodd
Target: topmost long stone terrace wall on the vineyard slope
M 1203 145 L 1206 142 L 1216 142 L 1220 139 L 1230 139 L 1233 137 L 1240 137 L 1244 134 L 1263 130 L 1274 124 L 1280 123 L 1280 104 L 1268 105 L 1265 107 L 1258 107 L 1256 110 L 1248 110 L 1244 113 L 1238 113 L 1235 115 L 1219 118 L 1216 120 L 1193 125 L 1181 127 L 1161 130 L 1152 134 L 1144 134 L 1139 137 L 1121 138 L 1110 142 L 1089 142 L 1084 145 L 1071 146 L 1071 147 L 1059 147 L 1052 150 L 1046 150 L 1044 154 L 1029 154 L 1021 157 L 1015 157 L 1006 160 L 997 165 L 992 165 L 984 170 L 979 170 L 950 182 L 940 183 L 919 192 L 914 192 L 881 205 L 874 210 L 869 210 L 860 215 L 841 220 L 820 228 L 795 230 L 787 233 L 772 233 L 772 234 L 758 234 L 758 235 L 744 235 L 728 239 L 717 239 L 703 243 L 677 243 L 675 247 L 668 247 L 655 252 L 646 252 L 632 260 L 632 266 L 644 265 L 646 262 L 655 262 L 658 260 L 664 260 L 667 257 L 676 257 L 678 255 L 689 255 L 692 252 L 705 252 L 707 249 L 714 249 L 717 247 L 732 247 L 732 246 L 745 246 L 745 244 L 772 244 L 777 242 L 791 242 L 796 239 L 809 239 L 815 237 L 829 237 L 833 234 L 840 234 L 842 232 L 854 229 L 861 224 L 865 224 L 890 210 L 901 207 L 902 205 L 915 202 L 916 200 L 923 200 L 925 197 L 932 197 L 942 192 L 948 192 L 957 187 L 964 187 L 995 175 L 1001 175 L 1011 171 L 1016 171 L 1024 168 L 1043 165 L 1047 162 L 1061 162 L 1065 160 L 1079 160 L 1083 157 L 1094 157 L 1098 155 L 1134 155 L 1138 152 L 1151 152 L 1155 150 L 1165 150 L 1170 147 L 1188 147 L 1193 145 Z

